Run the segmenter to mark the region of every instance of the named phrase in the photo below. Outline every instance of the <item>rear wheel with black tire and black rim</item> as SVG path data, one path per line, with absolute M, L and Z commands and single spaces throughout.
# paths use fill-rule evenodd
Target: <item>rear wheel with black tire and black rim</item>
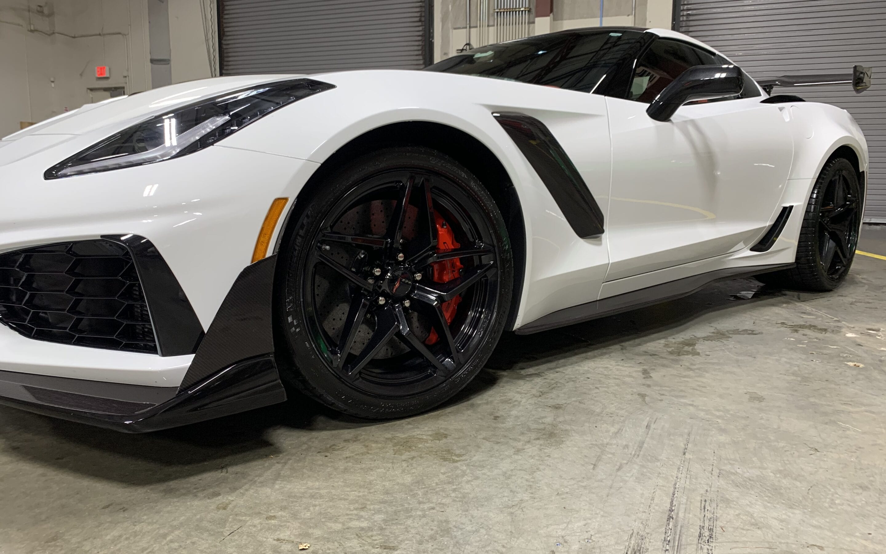
M 797 266 L 759 275 L 766 285 L 800 291 L 833 291 L 843 283 L 859 242 L 863 191 L 849 160 L 821 169 L 806 205 L 797 241 Z

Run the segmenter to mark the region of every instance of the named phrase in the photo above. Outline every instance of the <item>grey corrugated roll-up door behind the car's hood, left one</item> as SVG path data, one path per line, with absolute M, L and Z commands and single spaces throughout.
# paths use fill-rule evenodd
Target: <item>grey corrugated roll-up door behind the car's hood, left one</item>
M 425 66 L 429 0 L 220 0 L 221 73 Z

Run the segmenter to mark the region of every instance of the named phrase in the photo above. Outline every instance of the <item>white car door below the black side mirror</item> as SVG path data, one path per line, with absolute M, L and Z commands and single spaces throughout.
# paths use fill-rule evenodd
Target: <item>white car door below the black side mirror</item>
M 764 232 L 793 156 L 778 106 L 758 98 L 684 105 L 660 122 L 641 102 L 607 105 L 607 281 L 734 252 Z

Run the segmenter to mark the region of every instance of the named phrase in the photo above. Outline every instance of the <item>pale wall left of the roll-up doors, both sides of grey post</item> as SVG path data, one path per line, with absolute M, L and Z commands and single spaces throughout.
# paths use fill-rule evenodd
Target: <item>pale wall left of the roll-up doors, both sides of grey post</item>
M 89 89 L 152 88 L 148 1 L 0 0 L 0 137 L 91 102 Z M 200 2 L 154 1 L 167 4 L 172 82 L 210 76 Z

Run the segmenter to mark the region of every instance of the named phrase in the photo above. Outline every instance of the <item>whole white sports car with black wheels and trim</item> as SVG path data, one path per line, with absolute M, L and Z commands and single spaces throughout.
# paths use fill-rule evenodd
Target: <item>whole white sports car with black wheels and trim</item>
M 849 113 L 661 29 L 85 105 L 0 142 L 0 402 L 129 432 L 290 387 L 416 414 L 504 331 L 835 288 L 867 160 Z

